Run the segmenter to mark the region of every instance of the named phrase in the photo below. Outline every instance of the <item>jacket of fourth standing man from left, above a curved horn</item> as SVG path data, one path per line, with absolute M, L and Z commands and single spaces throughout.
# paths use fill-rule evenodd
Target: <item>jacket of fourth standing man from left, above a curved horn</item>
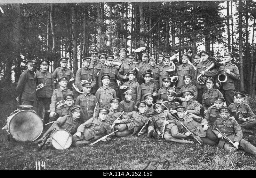
M 78 89 L 80 91 L 83 91 L 83 87 L 82 87 L 82 80 L 87 80 L 88 82 L 91 82 L 92 80 L 92 87 L 95 87 L 96 85 L 96 80 L 94 77 L 94 74 L 92 72 L 92 70 L 90 70 L 89 68 L 85 68 L 82 67 L 80 69 L 77 70 L 76 72 L 76 86 L 78 87 Z

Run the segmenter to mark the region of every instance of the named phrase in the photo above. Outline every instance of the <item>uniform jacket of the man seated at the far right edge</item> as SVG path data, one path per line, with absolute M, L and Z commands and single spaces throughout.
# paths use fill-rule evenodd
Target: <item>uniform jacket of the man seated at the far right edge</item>
M 252 109 L 248 104 L 241 103 L 238 105 L 236 103 L 231 103 L 228 108 L 232 114 L 236 114 L 236 112 L 241 111 L 244 115 L 246 115 L 246 119 L 256 119 L 255 114 L 252 112 Z

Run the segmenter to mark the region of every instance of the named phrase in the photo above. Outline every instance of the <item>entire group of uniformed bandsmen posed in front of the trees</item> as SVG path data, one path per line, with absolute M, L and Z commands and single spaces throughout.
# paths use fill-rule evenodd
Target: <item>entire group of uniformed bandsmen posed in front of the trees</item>
M 182 64 L 177 68 L 164 54 L 156 59 L 142 53 L 142 61 L 136 63 L 135 55 L 127 53 L 127 49 L 119 49 L 115 60 L 113 55 L 92 52 L 83 58 L 83 67 L 76 75 L 67 68 L 66 57 L 60 58 L 60 67 L 52 74 L 48 71 L 49 61 L 42 60 L 36 74 L 36 61 L 27 61 L 28 69 L 21 74 L 16 88 L 16 100 L 32 106 L 37 100 L 37 113 L 44 123 L 54 122 L 37 141 L 39 148 L 50 146 L 47 137 L 54 129 L 66 129 L 73 135 L 75 146 L 116 131 L 102 141 L 146 133 L 170 143 L 197 141 L 228 151 L 240 147 L 256 154 L 251 144 L 256 116 L 243 102 L 245 95 L 235 91 L 234 83 L 240 75 L 231 63 L 232 53 L 224 53 L 225 63 L 219 70 L 206 51 L 193 55 L 193 64 L 188 63 L 190 56 L 181 55 Z M 218 81 L 220 74 L 226 75 L 225 82 Z M 198 76 L 204 77 L 203 85 L 197 82 Z M 174 82 L 172 77 L 178 80 Z M 248 141 L 243 133 L 251 134 Z

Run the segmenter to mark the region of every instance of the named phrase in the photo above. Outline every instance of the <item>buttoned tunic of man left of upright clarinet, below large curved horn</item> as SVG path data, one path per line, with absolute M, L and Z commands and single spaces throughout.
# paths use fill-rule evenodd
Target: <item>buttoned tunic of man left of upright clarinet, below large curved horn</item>
M 94 108 L 96 107 L 97 99 L 92 93 L 83 93 L 76 98 L 76 104 L 81 107 L 85 114 L 85 120 L 87 121 L 93 116 Z

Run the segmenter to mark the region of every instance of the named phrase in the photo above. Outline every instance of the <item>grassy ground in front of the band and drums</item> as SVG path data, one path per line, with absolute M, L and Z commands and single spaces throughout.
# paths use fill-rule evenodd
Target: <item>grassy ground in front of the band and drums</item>
M 12 102 L 0 104 L 0 108 L 2 126 L 6 115 L 16 108 Z M 6 131 L 1 130 L 1 170 L 35 170 L 36 161 L 45 161 L 46 169 L 54 170 L 256 169 L 255 156 L 225 152 L 217 146 L 170 144 L 142 136 L 114 138 L 108 143 L 70 147 L 62 151 L 47 149 L 38 152 L 37 146 L 32 143 L 8 142 Z

